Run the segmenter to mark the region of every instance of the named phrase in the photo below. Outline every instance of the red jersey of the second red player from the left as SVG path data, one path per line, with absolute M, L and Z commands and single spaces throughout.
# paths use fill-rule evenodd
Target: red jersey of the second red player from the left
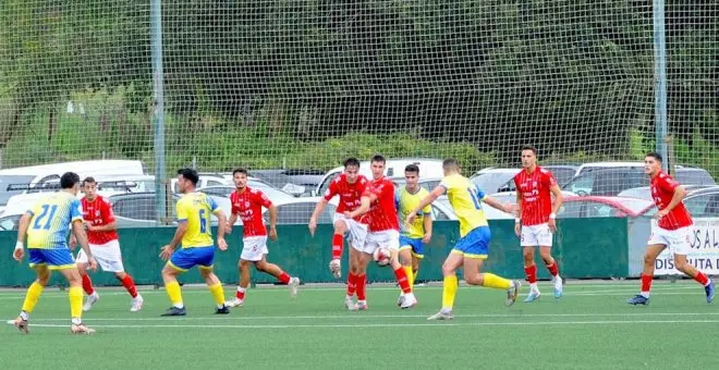
M 272 202 L 263 192 L 246 186 L 242 193 L 232 192 L 230 201 L 232 202 L 232 214 L 239 215 L 242 220 L 244 237 L 267 235 L 267 229 L 263 222 L 263 207 L 270 208 Z

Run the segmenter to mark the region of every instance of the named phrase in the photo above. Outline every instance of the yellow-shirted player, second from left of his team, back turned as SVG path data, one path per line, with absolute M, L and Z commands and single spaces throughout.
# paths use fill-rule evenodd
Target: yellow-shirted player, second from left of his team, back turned
M 178 171 L 178 189 L 183 194 L 176 205 L 178 231 L 174 233 L 172 242 L 162 247 L 162 252 L 160 252 L 163 260 L 169 259 L 162 269 L 162 281 L 164 281 L 164 289 L 172 301 L 172 307 L 168 308 L 162 316 L 186 314 L 176 276 L 195 266 L 199 268 L 199 274 L 212 293 L 217 304 L 215 313 L 230 313 L 230 309 L 224 304 L 222 283 L 212 270 L 215 244 L 210 230 L 210 213 L 215 213 L 219 221 L 217 246 L 220 250 L 227 250 L 228 243 L 224 240 L 227 217 L 212 198 L 195 190 L 198 181 L 199 175 L 195 170 Z M 175 251 L 181 243 L 182 248 Z

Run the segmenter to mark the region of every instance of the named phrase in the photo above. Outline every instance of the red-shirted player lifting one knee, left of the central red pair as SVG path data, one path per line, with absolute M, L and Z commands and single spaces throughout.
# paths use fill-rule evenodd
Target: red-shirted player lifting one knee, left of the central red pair
M 344 306 L 348 309 L 353 309 L 355 304 L 352 301 L 352 297 L 355 293 L 360 297 L 357 286 L 364 286 L 361 283 L 366 281 L 366 276 L 360 274 L 360 258 L 365 246 L 369 224 L 369 215 L 367 214 L 367 211 L 369 211 L 369 182 L 360 174 L 360 161 L 356 158 L 348 158 L 344 161 L 344 173 L 330 183 L 322 199 L 317 202 L 317 207 L 315 207 L 315 211 L 309 218 L 310 235 L 315 235 L 317 219 L 327 207 L 327 203 L 338 195 L 340 196 L 340 203 L 333 215 L 332 260 L 329 267 L 334 278 L 341 276 L 340 258 L 342 258 L 346 235 L 352 248 L 350 248 L 350 274 L 348 276 L 348 294 Z M 364 294 L 364 292 L 362 293 Z

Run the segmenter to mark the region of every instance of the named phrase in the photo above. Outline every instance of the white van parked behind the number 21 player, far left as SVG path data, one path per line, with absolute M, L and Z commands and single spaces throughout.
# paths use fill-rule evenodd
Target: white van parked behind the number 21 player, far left
M 10 197 L 25 194 L 28 188 L 42 187 L 57 181 L 65 172 L 75 172 L 80 177 L 100 175 L 143 175 L 143 162 L 136 160 L 90 160 L 40 164 L 0 170 L 0 210 Z

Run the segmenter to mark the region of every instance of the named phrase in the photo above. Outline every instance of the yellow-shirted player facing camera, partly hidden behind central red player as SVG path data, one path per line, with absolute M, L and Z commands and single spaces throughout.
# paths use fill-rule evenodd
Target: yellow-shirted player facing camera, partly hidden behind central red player
M 409 164 L 404 168 L 405 185 L 397 192 L 395 203 L 400 220 L 406 219 L 407 214 L 419 205 L 429 192 L 419 186 L 419 168 Z M 400 234 L 400 262 L 404 266 L 410 280 L 410 286 L 414 289 L 414 281 L 417 279 L 419 262 L 424 256 L 424 245 L 431 239 L 431 206 L 427 205 L 417 213 L 412 224 L 402 222 Z M 409 267 L 409 269 L 407 269 Z M 402 304 L 404 294 L 400 295 L 398 305 Z

